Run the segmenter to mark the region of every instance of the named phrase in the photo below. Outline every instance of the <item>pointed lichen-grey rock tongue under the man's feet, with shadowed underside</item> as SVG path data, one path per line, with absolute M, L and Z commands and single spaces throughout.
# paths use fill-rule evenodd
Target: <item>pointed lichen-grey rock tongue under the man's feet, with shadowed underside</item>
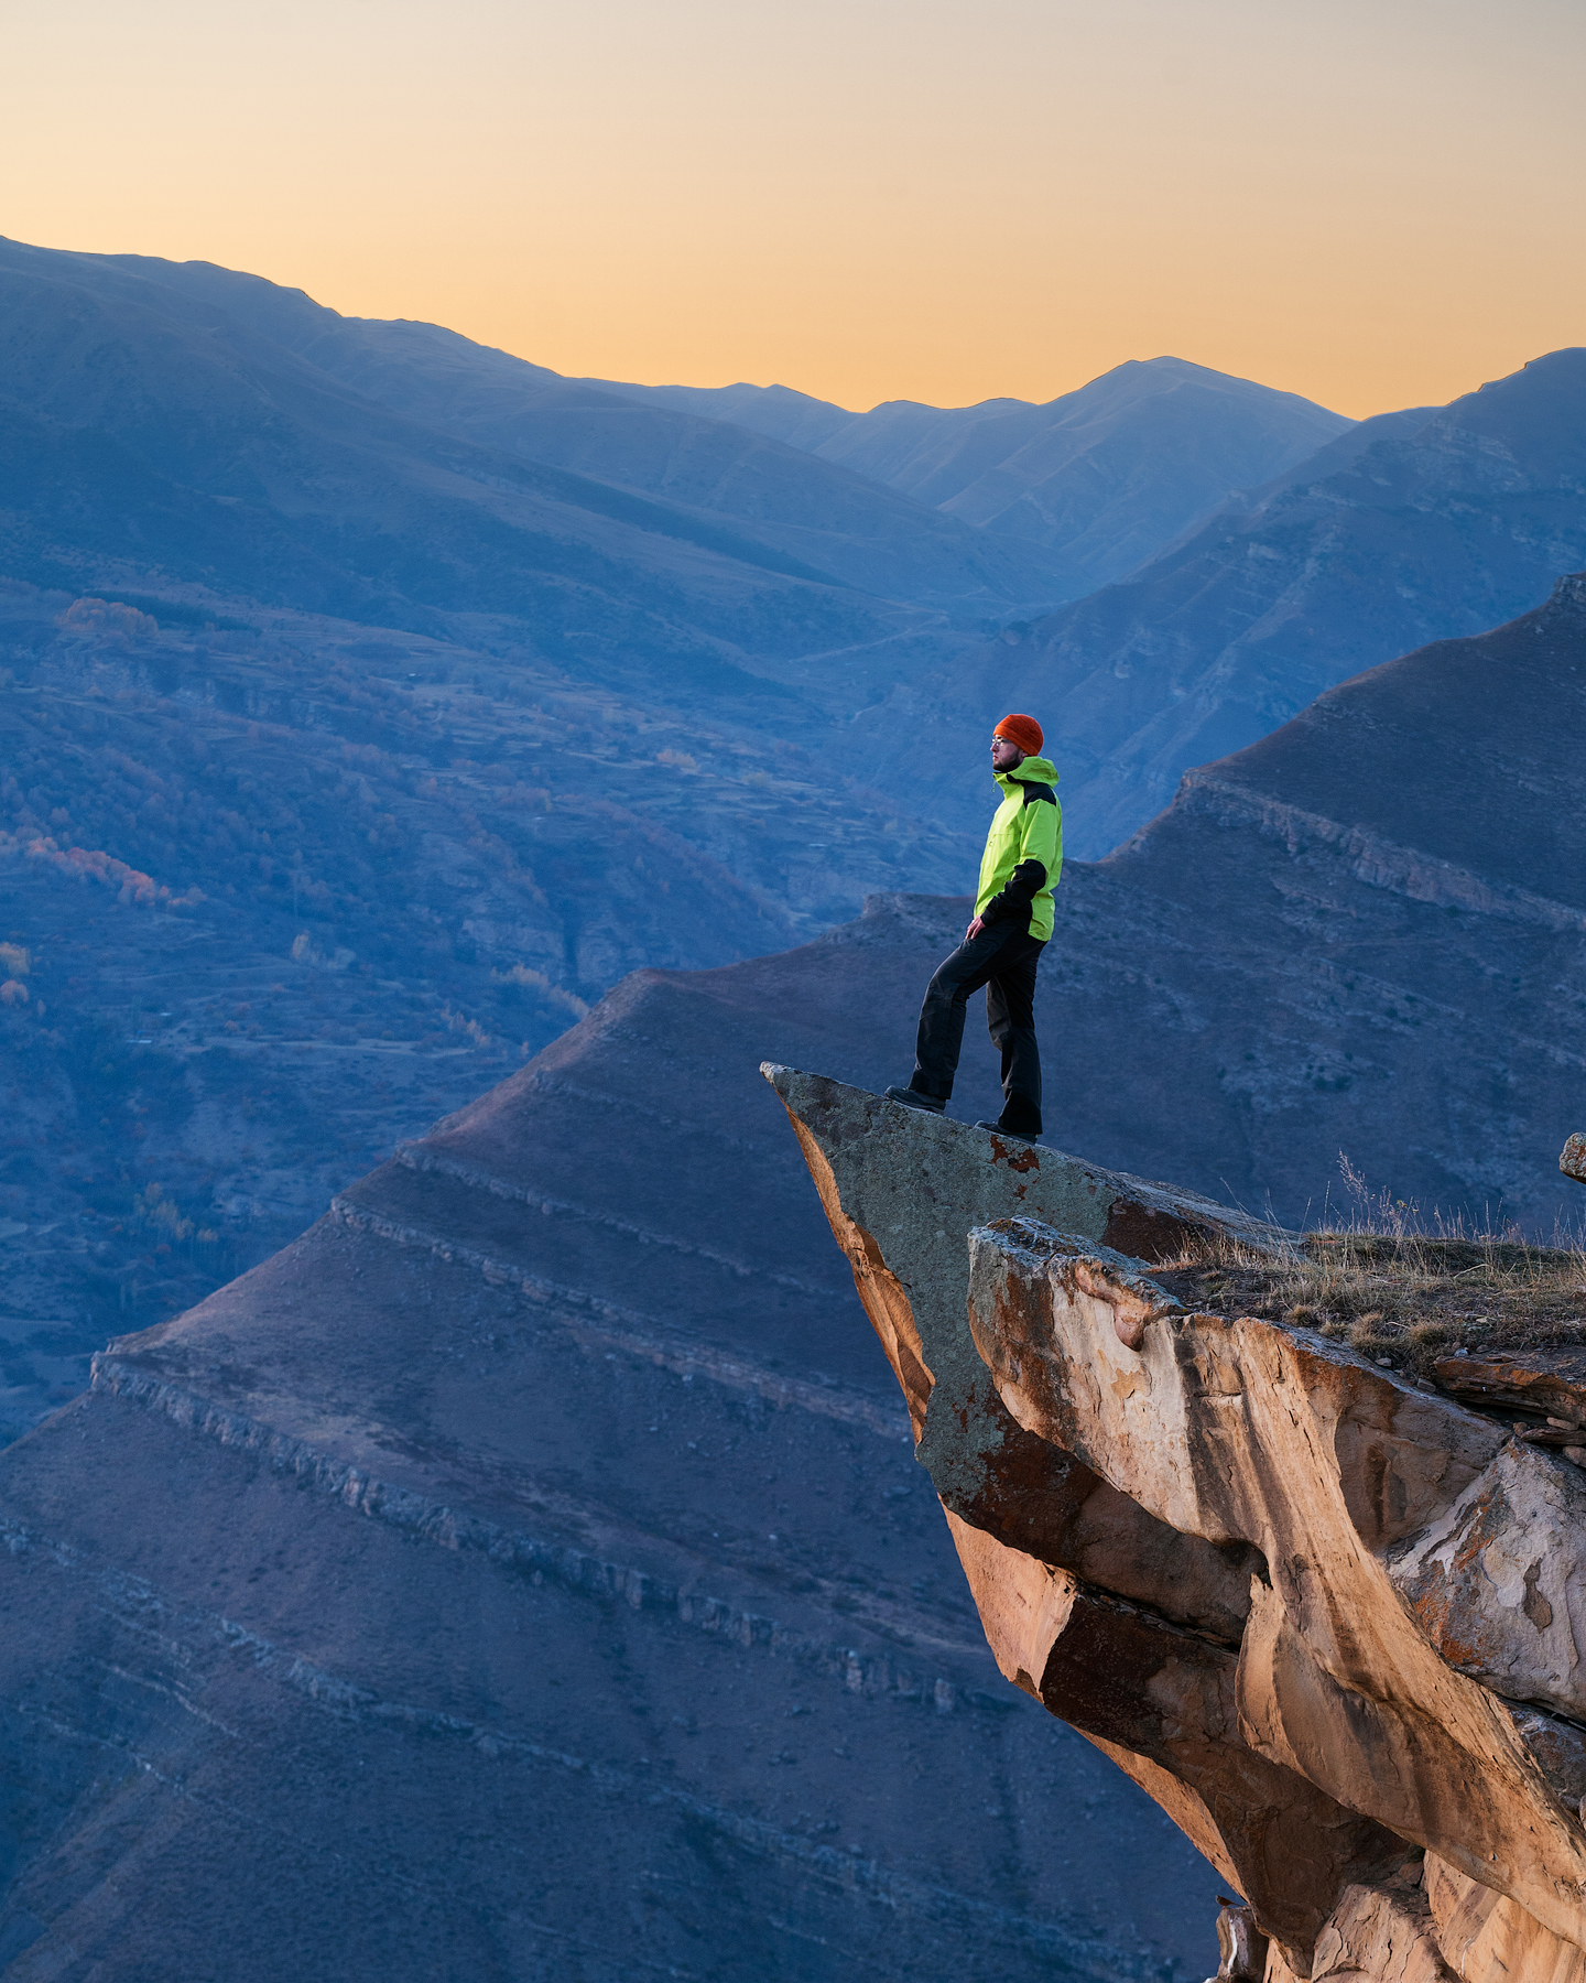
M 1142 1261 L 1104 1243 L 1118 1208 L 1148 1214 L 1176 1247 L 1215 1231 L 1219 1208 L 835 1081 L 767 1077 L 924 1422 L 918 1454 L 1001 1670 L 1142 1783 L 1308 1975 L 1338 1896 L 1398 1864 L 1404 1844 L 1241 1737 L 1235 1648 L 1265 1575 L 1259 1551 L 1176 1531 L 1061 1442 L 1023 1430 L 969 1335 L 975 1224 L 1019 1231 L 1013 1214 L 1063 1218 L 1075 1287 L 1124 1354 L 1174 1303 Z M 1227 1222 L 1263 1251 L 1289 1243 L 1239 1214 Z

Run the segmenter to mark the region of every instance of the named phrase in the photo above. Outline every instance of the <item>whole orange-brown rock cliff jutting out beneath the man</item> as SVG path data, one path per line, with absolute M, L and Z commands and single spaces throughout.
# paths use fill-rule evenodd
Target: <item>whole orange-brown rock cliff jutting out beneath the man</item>
M 1580 1467 L 1150 1279 L 1275 1227 L 767 1075 L 997 1664 L 1239 1888 L 1269 1983 L 1586 1977 Z

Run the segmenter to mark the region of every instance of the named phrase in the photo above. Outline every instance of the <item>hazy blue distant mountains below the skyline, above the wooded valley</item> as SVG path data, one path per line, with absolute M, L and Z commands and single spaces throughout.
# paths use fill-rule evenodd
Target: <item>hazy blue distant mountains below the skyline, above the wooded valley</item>
M 876 789 L 906 746 L 906 807 L 954 833 L 985 809 L 965 738 L 1033 708 L 1092 857 L 1186 767 L 1584 563 L 1584 369 L 1554 353 L 1358 426 L 1180 359 L 1049 407 L 847 414 L 563 379 L 210 264 L 12 242 L 0 571 L 728 698 Z

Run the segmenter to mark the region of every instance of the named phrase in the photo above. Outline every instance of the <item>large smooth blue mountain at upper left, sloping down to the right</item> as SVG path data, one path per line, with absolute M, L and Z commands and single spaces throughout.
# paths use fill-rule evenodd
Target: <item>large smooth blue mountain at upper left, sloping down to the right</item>
M 260 591 L 254 547 L 285 533 L 295 549 L 278 543 L 272 563 L 278 597 L 297 605 L 349 613 L 373 587 L 385 621 L 385 595 L 396 593 L 585 631 L 591 619 L 611 627 L 617 607 L 617 621 L 672 623 L 668 644 L 680 627 L 737 642 L 720 603 L 747 581 L 765 611 L 739 619 L 739 633 L 755 652 L 785 654 L 896 631 L 896 613 L 860 603 L 856 589 L 983 615 L 1029 601 L 1037 585 L 983 533 L 797 448 L 636 408 L 434 325 L 347 321 L 299 292 L 206 264 L 6 244 L 0 351 L 0 405 L 24 424 L 93 432 L 131 452 L 129 472 L 172 484 L 145 506 L 167 525 L 145 557 L 180 569 L 190 537 L 218 529 L 224 539 L 230 522 L 236 563 L 212 545 L 206 561 L 222 557 L 212 583 Z M 216 518 L 216 498 L 250 514 Z M 93 490 L 85 500 L 95 504 Z M 206 516 L 178 527 L 170 506 L 194 502 Z M 32 504 L 22 492 L 8 508 Z M 65 529 L 63 516 L 52 527 Z M 83 527 L 79 549 L 91 539 L 105 555 L 103 531 Z M 125 549 L 139 555 L 131 539 Z M 289 571 L 309 583 L 305 565 L 323 561 L 349 581 L 341 595 L 295 593 Z M 805 631 L 789 581 L 823 593 Z M 547 583 L 583 583 L 603 605 L 591 615 L 537 597 Z M 704 595 L 718 605 L 702 615 Z M 623 639 L 634 639 L 632 625 Z

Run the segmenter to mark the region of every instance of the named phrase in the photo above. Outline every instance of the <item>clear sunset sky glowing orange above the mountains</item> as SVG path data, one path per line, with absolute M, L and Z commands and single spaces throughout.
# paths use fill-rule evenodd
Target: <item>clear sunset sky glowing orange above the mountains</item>
M 1580 0 L 10 0 L 0 234 L 847 407 L 1586 343 Z

